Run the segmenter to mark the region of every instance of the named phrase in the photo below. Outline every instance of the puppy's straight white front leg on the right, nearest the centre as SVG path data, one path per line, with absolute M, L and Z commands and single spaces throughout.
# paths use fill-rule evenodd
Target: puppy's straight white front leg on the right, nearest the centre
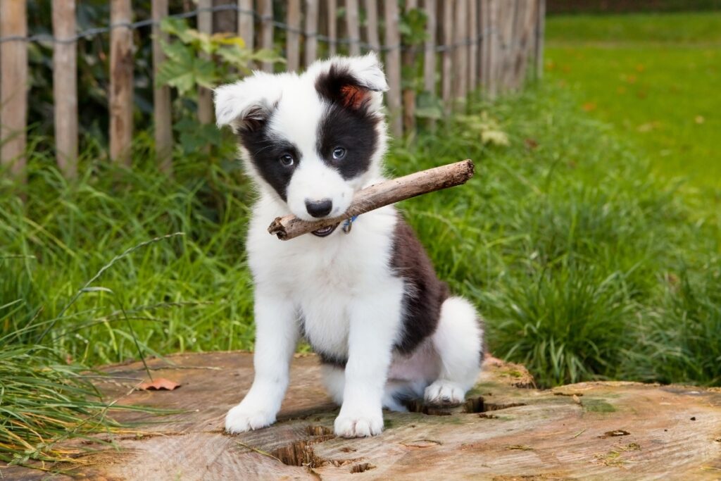
M 383 431 L 383 398 L 391 351 L 400 325 L 402 282 L 355 299 L 348 312 L 348 363 L 335 433 L 345 438 Z

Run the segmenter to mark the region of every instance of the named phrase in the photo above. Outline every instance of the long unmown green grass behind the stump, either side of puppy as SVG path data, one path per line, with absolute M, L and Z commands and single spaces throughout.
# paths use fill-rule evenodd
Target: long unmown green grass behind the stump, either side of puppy
M 396 144 L 389 169 L 477 161 L 468 185 L 402 207 L 441 278 L 486 317 L 492 352 L 546 386 L 719 384 L 719 214 L 696 209 L 562 89 L 471 110 Z M 482 144 L 484 112 L 510 146 Z M 125 361 L 138 357 L 129 322 L 148 354 L 252 348 L 243 244 L 253 194 L 232 147 L 177 156 L 171 180 L 147 161 L 149 145 L 138 138 L 132 172 L 88 152 L 77 185 L 32 152 L 25 206 L 4 182 L 0 329 L 19 332 L 14 343 L 37 342 L 52 323 L 43 343 L 63 356 Z M 113 262 L 66 309 L 113 257 L 179 231 Z

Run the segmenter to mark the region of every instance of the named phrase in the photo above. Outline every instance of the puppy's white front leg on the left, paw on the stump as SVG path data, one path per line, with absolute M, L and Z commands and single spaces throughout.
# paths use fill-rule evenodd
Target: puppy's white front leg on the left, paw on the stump
M 226 431 L 242 433 L 275 423 L 297 342 L 298 323 L 291 301 L 256 291 L 255 379 L 242 402 L 226 415 Z

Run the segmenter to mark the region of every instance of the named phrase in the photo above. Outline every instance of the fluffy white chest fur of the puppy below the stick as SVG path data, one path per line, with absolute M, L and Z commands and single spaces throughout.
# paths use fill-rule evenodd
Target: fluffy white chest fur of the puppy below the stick
M 256 288 L 291 299 L 309 343 L 345 358 L 353 302 L 375 291 L 402 293 L 389 262 L 397 212 L 386 207 L 363 214 L 348 234 L 339 227 L 329 237 L 289 241 L 267 234 L 278 215 L 273 201 L 261 199 L 254 207 L 247 250 Z

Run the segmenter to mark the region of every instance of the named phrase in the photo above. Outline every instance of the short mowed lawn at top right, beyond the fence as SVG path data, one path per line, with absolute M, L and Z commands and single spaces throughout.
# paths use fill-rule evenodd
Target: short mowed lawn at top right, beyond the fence
M 549 17 L 547 78 L 721 204 L 721 12 Z

